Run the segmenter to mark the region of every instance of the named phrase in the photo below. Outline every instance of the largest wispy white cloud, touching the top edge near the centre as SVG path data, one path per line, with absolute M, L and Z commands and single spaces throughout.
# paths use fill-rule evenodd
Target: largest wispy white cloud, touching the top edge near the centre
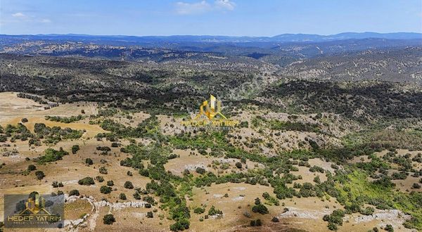
M 233 11 L 236 4 L 230 0 L 215 0 L 212 4 L 207 1 L 186 3 L 179 1 L 176 4 L 176 13 L 179 15 L 194 15 L 209 11 Z

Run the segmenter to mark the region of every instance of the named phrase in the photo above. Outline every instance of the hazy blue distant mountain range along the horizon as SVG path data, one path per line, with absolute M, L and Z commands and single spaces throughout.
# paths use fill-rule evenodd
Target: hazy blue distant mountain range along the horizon
M 345 32 L 340 34 L 279 34 L 274 37 L 229 37 L 212 35 L 172 35 L 172 36 L 125 36 L 125 35 L 89 35 L 89 34 L 0 34 L 0 39 L 51 39 L 68 41 L 122 41 L 129 43 L 186 43 L 186 42 L 216 42 L 216 43 L 245 43 L 245 42 L 322 42 L 345 39 L 422 39 L 422 33 L 415 32 Z

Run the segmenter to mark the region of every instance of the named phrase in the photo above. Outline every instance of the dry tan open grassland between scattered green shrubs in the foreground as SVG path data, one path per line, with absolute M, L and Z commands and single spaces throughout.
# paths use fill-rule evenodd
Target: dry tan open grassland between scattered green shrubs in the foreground
M 63 191 L 66 198 L 69 198 L 68 193 L 77 189 L 83 198 L 69 198 L 73 200 L 70 200 L 66 204 L 65 217 L 68 221 L 66 222 L 67 224 L 76 226 L 80 231 L 103 231 L 110 229 L 132 231 L 139 228 L 144 231 L 167 231 L 163 228 L 168 228 L 172 224 L 168 209 L 162 209 L 157 206 L 147 209 L 142 206 L 145 203 L 143 200 L 134 198 L 134 193 L 136 193 L 134 189 L 124 187 L 125 182 L 130 181 L 134 188 L 143 190 L 147 188 L 147 183 L 151 182 L 151 178 L 139 175 L 136 169 L 120 165 L 120 161 L 131 157 L 129 153 L 120 148 L 128 146 L 131 143 L 122 140 L 119 146 L 113 147 L 111 141 L 104 138 L 94 138 L 97 134 L 107 133 L 108 131 L 101 128 L 101 125 L 89 123 L 89 118 L 71 123 L 52 122 L 45 118 L 45 116 L 51 115 L 61 117 L 77 116 L 81 110 L 84 110 L 87 115 L 95 115 L 98 113 L 95 103 L 70 103 L 59 105 L 50 110 L 44 110 L 42 105 L 37 105 L 32 100 L 17 98 L 15 93 L 1 93 L 0 98 L 0 122 L 3 127 L 6 127 L 7 124 L 18 124 L 25 117 L 28 120 L 28 122 L 24 123 L 25 127 L 32 133 L 34 133 L 34 125 L 37 123 L 45 124 L 47 127 L 69 127 L 84 131 L 80 138 L 58 141 L 56 144 L 41 143 L 39 146 L 28 146 L 27 141 L 20 140 L 13 143 L 8 141 L 0 143 L 3 154 L 13 150 L 15 151 L 12 155 L 3 155 L 0 157 L 0 162 L 6 164 L 0 169 L 1 208 L 4 206 L 4 194 L 28 194 L 32 191 L 38 191 L 39 193 Z M 255 117 L 253 115 L 256 115 L 256 112 L 245 111 L 241 115 L 238 115 L 237 118 L 238 120 L 252 124 L 252 120 Z M 139 112 L 131 115 L 130 119 L 123 115 L 115 115 L 112 117 L 112 120 L 126 127 L 137 127 L 138 124 L 148 120 L 149 117 L 151 115 Z M 272 114 L 269 117 L 288 120 L 288 115 L 286 114 L 279 116 Z M 160 128 L 164 128 L 161 132 L 168 136 L 180 133 L 180 127 L 170 127 L 171 124 L 177 125 L 179 120 L 170 119 L 171 117 L 158 115 L 158 125 Z M 307 120 L 307 117 L 303 117 L 303 120 Z M 234 137 L 232 137 L 231 143 L 248 143 L 253 141 L 251 138 L 255 138 L 255 141 L 257 138 L 263 138 L 260 144 L 264 144 L 267 141 L 276 141 L 278 143 L 274 135 L 271 135 L 273 136 L 272 138 L 269 135 L 274 132 L 266 131 L 262 134 L 257 131 L 259 128 L 248 127 L 232 131 L 231 133 Z M 286 133 L 286 131 L 283 133 Z M 305 141 L 305 137 L 309 136 L 309 134 L 304 136 L 304 134 L 297 131 L 287 131 L 287 133 L 290 134 L 290 137 L 293 136 L 302 141 Z M 141 148 L 142 146 L 147 148 L 154 143 L 151 138 L 136 138 L 136 141 L 140 144 Z M 296 143 L 298 142 L 296 141 Z M 277 146 L 285 146 L 284 148 L 286 150 L 290 147 L 288 143 L 279 144 Z M 47 148 L 56 150 L 63 148 L 63 150 L 70 151 L 72 150 L 72 146 L 75 145 L 79 146 L 76 154 L 70 153 L 70 155 L 65 155 L 63 159 L 57 160 L 56 162 L 37 164 L 37 162 L 33 161 L 41 157 Z M 98 150 L 104 147 L 109 148 L 106 153 Z M 246 148 L 246 146 L 243 146 L 243 148 Z M 265 148 L 265 146 L 262 148 Z M 267 148 L 267 152 L 265 151 L 266 149 L 262 151 L 264 154 L 274 156 L 276 155 L 277 149 Z M 253 151 L 256 150 L 256 147 L 245 150 L 246 152 Z M 184 177 L 184 172 L 188 170 L 192 179 L 203 177 L 203 174 L 198 173 L 198 168 L 203 168 L 205 172 L 221 176 L 261 172 L 267 167 L 267 165 L 261 162 L 229 158 L 222 155 L 211 155 L 212 148 L 207 148 L 207 155 L 203 155 L 203 151 L 193 147 L 189 149 L 172 149 L 172 153 L 176 155 L 176 158 L 168 160 L 165 163 L 165 170 L 180 177 Z M 416 157 L 419 153 L 419 151 L 397 150 L 397 155 L 410 154 L 410 158 Z M 379 158 L 383 158 L 386 154 L 388 154 L 388 150 L 374 153 Z M 87 158 L 92 160 L 93 165 L 85 164 Z M 357 164 L 359 162 L 370 161 L 371 159 L 368 156 L 357 156 L 349 162 L 351 164 Z M 290 158 L 289 162 L 294 163 L 296 161 Z M 241 168 L 236 167 L 238 163 L 241 164 Z M 35 164 L 37 170 L 44 172 L 45 177 L 42 180 L 36 180 L 33 172 L 26 171 L 28 165 L 31 164 Z M 151 161 L 144 160 L 142 164 L 143 167 L 148 167 L 148 165 L 151 165 Z M 413 162 L 412 164 L 416 169 L 421 168 L 420 162 Z M 98 171 L 100 167 L 106 168 L 107 173 L 101 174 Z M 321 167 L 324 173 L 311 172 L 309 167 Z M 397 169 L 399 166 L 393 164 L 392 167 Z M 287 183 L 286 186 L 289 188 L 296 188 L 295 185 L 302 186 L 307 183 L 314 183 L 316 178 L 324 183 L 328 181 L 327 173 L 333 174 L 336 172 L 336 169 L 344 169 L 342 165 L 337 166 L 335 162 L 324 161 L 320 158 L 307 160 L 307 166 L 295 163 L 292 165 L 292 168 L 290 174 L 301 177 L 292 181 L 292 183 Z M 394 169 L 390 170 L 389 174 L 392 174 L 392 172 L 394 172 Z M 131 176 L 128 175 L 129 173 L 131 173 Z M 283 177 L 283 175 L 279 174 L 280 177 Z M 79 185 L 78 181 L 87 176 L 94 178 L 95 183 L 90 186 Z M 103 176 L 104 181 L 99 182 L 95 179 L 96 176 Z M 371 180 L 371 178 L 368 178 L 368 180 Z M 63 187 L 53 188 L 53 181 L 63 183 Z M 111 193 L 100 193 L 100 187 L 106 185 L 108 181 L 113 181 Z M 397 189 L 407 192 L 412 188 L 413 183 L 417 181 L 417 177 L 408 176 L 405 180 L 394 180 L 392 182 L 396 184 Z M 414 191 L 421 190 L 416 189 Z M 274 202 L 262 198 L 263 193 L 269 193 L 272 198 L 276 199 L 273 187 L 260 184 L 212 183 L 210 186 L 193 186 L 191 191 L 188 191 L 188 195 L 190 196 L 185 196 L 186 206 L 191 210 L 196 207 L 203 207 L 205 213 L 196 214 L 191 211 L 189 230 L 203 231 L 203 228 L 207 228 L 207 231 L 285 231 L 289 228 L 294 228 L 308 231 L 309 226 L 311 226 L 313 228 L 312 231 L 326 231 L 326 222 L 322 220 L 322 217 L 326 214 L 331 214 L 333 210 L 343 208 L 343 205 L 335 200 L 335 198 L 330 198 L 328 195 L 322 198 L 286 198 L 276 200 L 277 205 L 274 205 Z M 121 194 L 126 196 L 125 200 L 120 199 Z M 158 202 L 158 195 L 153 195 L 153 198 Z M 251 209 L 254 205 L 255 198 L 260 198 L 264 201 L 269 211 L 268 214 L 252 212 Z M 125 202 L 129 202 L 132 206 L 126 207 L 122 205 Z M 136 204 L 139 206 L 134 206 Z M 207 210 L 211 206 L 222 210 L 222 214 L 204 219 Z M 154 217 L 146 217 L 147 212 L 151 212 L 151 210 L 154 211 Z M 103 216 L 108 213 L 115 214 L 117 222 L 112 226 L 104 225 L 101 221 Z M 3 212 L 1 212 L 1 217 L 2 214 Z M 397 229 L 397 231 L 410 231 L 402 226 L 404 221 L 409 219 L 409 216 L 399 210 L 376 210 L 373 215 L 376 216 L 367 217 L 359 213 L 347 215 L 343 219 L 343 226 L 339 228 L 339 231 L 363 231 L 366 228 L 384 227 L 386 224 L 392 224 L 393 228 Z M 271 222 L 273 217 L 279 219 L 280 222 Z M 250 227 L 250 221 L 257 219 L 264 221 L 264 225 L 260 228 Z

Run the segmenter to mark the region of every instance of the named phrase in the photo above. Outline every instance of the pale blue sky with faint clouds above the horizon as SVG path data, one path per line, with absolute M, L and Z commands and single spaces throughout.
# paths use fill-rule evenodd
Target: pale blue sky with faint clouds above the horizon
M 422 32 L 421 0 L 0 0 L 0 34 Z

